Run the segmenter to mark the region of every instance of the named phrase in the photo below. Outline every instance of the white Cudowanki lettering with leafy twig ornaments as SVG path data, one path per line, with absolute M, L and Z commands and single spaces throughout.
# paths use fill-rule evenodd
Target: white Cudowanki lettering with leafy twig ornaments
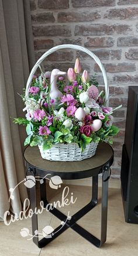
M 50 175 L 51 174 L 49 173 L 46 176 L 44 176 L 43 178 L 40 176 L 34 177 L 33 175 L 26 176 L 26 178 L 23 179 L 20 183 L 18 183 L 18 185 L 16 185 L 14 188 L 9 189 L 9 192 L 11 192 L 10 197 L 9 197 L 9 202 L 10 202 L 10 200 L 15 199 L 13 193 L 14 193 L 16 187 L 18 187 L 21 183 L 24 183 L 24 185 L 27 188 L 32 189 L 32 187 L 36 185 L 36 181 L 39 181 L 40 185 L 42 185 L 44 182 L 44 179 L 46 179 L 46 180 L 49 180 L 49 186 L 51 187 L 51 189 L 57 190 L 58 188 L 60 188 L 61 184 L 63 183 L 60 176 L 56 175 L 56 176 L 50 177 Z M 50 177 L 50 178 L 48 178 L 48 177 Z M 5 214 L 4 214 L 5 225 L 9 226 L 9 224 L 11 224 L 11 222 L 22 220 L 23 217 L 25 219 L 27 219 L 28 217 L 32 217 L 33 214 L 41 214 L 43 212 L 43 210 L 50 211 L 50 210 L 53 210 L 54 208 L 56 208 L 57 206 L 61 208 L 61 207 L 64 207 L 65 205 L 68 206 L 70 204 L 74 204 L 77 200 L 77 197 L 74 200 L 73 193 L 71 193 L 71 197 L 69 200 L 67 198 L 69 191 L 70 191 L 69 187 L 65 186 L 62 191 L 61 202 L 60 202 L 60 200 L 57 200 L 57 202 L 47 203 L 46 207 L 44 207 L 44 202 L 40 201 L 40 209 L 37 209 L 37 207 L 36 207 L 34 209 L 34 211 L 32 209 L 29 209 L 30 200 L 25 199 L 25 201 L 23 203 L 23 211 L 20 211 L 19 214 L 15 213 L 15 215 L 13 216 L 10 214 L 9 211 L 5 211 Z M 11 215 L 11 219 L 9 221 L 7 221 L 7 217 L 10 215 Z M 67 220 L 71 220 L 70 211 L 68 211 L 67 219 L 65 221 L 61 221 L 61 227 L 57 231 L 54 231 L 54 228 L 51 226 L 45 226 L 42 230 L 42 233 L 39 233 L 38 230 L 35 230 L 34 235 L 32 235 L 29 232 L 29 228 L 23 227 L 20 231 L 20 235 L 22 235 L 22 237 L 29 237 L 29 238 L 27 238 L 27 240 L 32 240 L 33 237 L 51 238 L 51 237 L 53 237 L 54 234 L 56 234 L 58 231 L 60 231 L 61 228 L 64 227 Z

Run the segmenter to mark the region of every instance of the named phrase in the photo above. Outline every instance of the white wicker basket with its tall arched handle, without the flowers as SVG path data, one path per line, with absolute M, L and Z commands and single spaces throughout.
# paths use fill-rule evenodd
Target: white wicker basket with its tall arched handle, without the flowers
M 109 87 L 108 87 L 108 79 L 106 76 L 105 68 L 102 65 L 99 58 L 94 53 L 92 53 L 88 49 L 86 49 L 82 46 L 78 46 L 78 45 L 58 45 L 58 46 L 53 47 L 50 50 L 48 50 L 46 53 L 44 53 L 42 55 L 42 57 L 40 57 L 39 60 L 37 60 L 32 71 L 30 72 L 29 78 L 27 80 L 26 92 L 25 92 L 26 98 L 29 95 L 29 88 L 30 88 L 30 84 L 32 83 L 33 75 L 36 72 L 39 65 L 43 62 L 43 60 L 47 56 L 49 56 L 51 53 L 54 53 L 57 50 L 70 49 L 70 48 L 75 49 L 75 50 L 81 50 L 82 52 L 87 53 L 98 64 L 99 68 L 102 71 L 102 75 L 104 78 L 105 101 L 106 101 L 106 105 L 108 105 Z M 78 147 L 78 144 L 57 144 L 57 145 L 53 145 L 53 147 L 51 149 L 46 150 L 46 151 L 43 151 L 43 146 L 39 146 L 39 149 L 40 149 L 42 158 L 47 159 L 47 160 L 51 160 L 51 161 L 81 161 L 83 159 L 91 158 L 92 156 L 94 156 L 97 145 L 98 145 L 97 143 L 91 142 L 90 144 L 87 145 L 84 152 L 81 152 L 81 149 Z

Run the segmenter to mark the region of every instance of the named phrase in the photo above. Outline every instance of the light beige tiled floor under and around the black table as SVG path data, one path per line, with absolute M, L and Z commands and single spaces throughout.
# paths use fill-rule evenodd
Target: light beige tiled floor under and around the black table
M 75 211 L 87 204 L 91 198 L 91 188 L 88 186 L 71 186 L 70 193 L 74 193 L 77 201 L 74 205 L 64 207 L 62 211 L 74 214 Z M 99 237 L 101 189 L 99 189 L 98 205 L 86 214 L 78 223 L 92 234 Z M 60 194 L 54 201 L 61 199 Z M 53 228 L 60 224 L 60 220 L 51 216 L 46 210 L 39 215 L 39 231 L 50 225 Z M 0 255 L 1 256 L 137 256 L 138 255 L 138 225 L 125 223 L 123 216 L 122 198 L 119 189 L 109 189 L 108 203 L 108 234 L 107 241 L 102 248 L 96 248 L 80 235 L 68 228 L 46 247 L 39 249 L 32 240 L 21 237 L 20 230 L 26 227 L 31 232 L 31 220 L 16 221 L 9 226 L 0 222 Z

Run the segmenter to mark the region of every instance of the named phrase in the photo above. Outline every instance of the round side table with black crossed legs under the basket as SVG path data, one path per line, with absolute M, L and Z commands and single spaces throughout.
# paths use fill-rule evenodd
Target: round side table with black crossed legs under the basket
M 95 156 L 92 158 L 85 159 L 82 161 L 73 161 L 73 162 L 59 162 L 59 161 L 48 161 L 43 159 L 40 155 L 40 151 L 38 147 L 30 147 L 27 146 L 24 152 L 24 159 L 27 168 L 27 176 L 26 179 L 32 175 L 33 179 L 36 177 L 42 178 L 43 182 L 40 182 L 40 196 L 41 200 L 46 207 L 49 202 L 46 197 L 46 180 L 44 179 L 47 175 L 49 175 L 50 182 L 53 182 L 55 177 L 58 177 L 58 181 L 60 179 L 71 180 L 71 179 L 83 179 L 92 177 L 92 199 L 86 206 L 84 206 L 81 210 L 71 216 L 71 220 L 67 220 L 67 216 L 65 216 L 61 211 L 57 210 L 53 207 L 50 210 L 54 216 L 58 217 L 61 221 L 65 221 L 65 225 L 61 228 L 61 225 L 58 226 L 53 233 L 54 235 L 49 238 L 42 238 L 39 241 L 37 235 L 35 235 L 34 231 L 38 230 L 37 224 L 37 214 L 33 214 L 32 216 L 32 234 L 34 235 L 33 241 L 39 247 L 42 248 L 54 238 L 58 237 L 63 231 L 67 230 L 67 228 L 71 227 L 74 231 L 80 234 L 82 237 L 87 239 L 92 244 L 96 245 L 96 247 L 101 247 L 102 244 L 106 241 L 106 230 L 107 230 L 107 213 L 108 213 L 108 179 L 111 174 L 110 166 L 113 163 L 113 149 L 112 147 L 102 142 L 98 145 L 96 149 Z M 102 202 L 101 202 L 101 239 L 99 240 L 94 235 L 90 234 L 87 230 L 82 228 L 76 222 L 88 213 L 89 210 L 94 208 L 98 202 L 98 175 L 102 173 Z M 54 181 L 55 183 L 55 181 Z M 58 182 L 57 182 L 58 183 Z M 54 184 L 57 186 L 58 184 Z M 57 186 L 58 187 L 58 186 Z M 36 205 L 36 186 L 30 187 L 30 206 L 34 210 Z M 59 231 L 58 231 L 59 230 Z M 57 232 L 58 231 L 58 232 Z

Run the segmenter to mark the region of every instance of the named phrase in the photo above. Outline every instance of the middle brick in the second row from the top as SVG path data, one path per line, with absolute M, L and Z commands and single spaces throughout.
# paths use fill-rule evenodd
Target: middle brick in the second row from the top
M 57 15 L 58 22 L 80 22 L 80 21 L 95 21 L 101 18 L 101 15 L 96 12 L 59 12 Z

